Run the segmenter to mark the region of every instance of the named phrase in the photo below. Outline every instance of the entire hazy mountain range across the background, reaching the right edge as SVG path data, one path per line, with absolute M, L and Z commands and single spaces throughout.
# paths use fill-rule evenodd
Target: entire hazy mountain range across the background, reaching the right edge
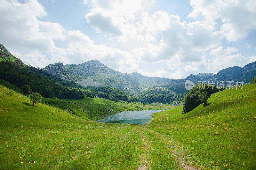
M 124 91 L 139 93 L 152 87 L 164 87 L 177 93 L 187 93 L 184 83 L 191 80 L 198 81 L 244 81 L 250 83 L 256 75 L 256 61 L 242 67 L 229 67 L 220 70 L 217 74 L 199 73 L 191 74 L 184 79 L 169 79 L 159 77 L 147 77 L 140 73 L 121 73 L 113 70 L 97 60 L 91 60 L 82 64 L 62 63 L 50 64 L 43 68 L 62 79 L 76 82 L 86 87 L 110 86 Z

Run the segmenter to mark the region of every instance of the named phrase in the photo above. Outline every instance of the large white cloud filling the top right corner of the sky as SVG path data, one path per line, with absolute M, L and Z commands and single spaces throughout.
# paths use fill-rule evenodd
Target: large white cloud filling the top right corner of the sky
M 220 19 L 220 33 L 229 41 L 243 39 L 256 29 L 256 2 L 254 0 L 190 0 L 193 11 L 188 17 L 204 17 L 207 25 L 216 25 Z

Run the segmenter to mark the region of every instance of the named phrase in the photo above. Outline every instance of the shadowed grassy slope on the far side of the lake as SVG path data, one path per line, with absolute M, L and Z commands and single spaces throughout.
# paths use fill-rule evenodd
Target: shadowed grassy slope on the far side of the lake
M 60 99 L 47 99 L 44 98 L 43 102 L 45 104 L 50 104 L 52 106 L 59 107 L 61 109 L 68 109 L 71 113 L 74 113 L 78 117 L 85 120 L 99 120 L 108 115 L 112 115 L 125 110 L 141 110 L 135 108 L 135 106 L 140 106 L 143 110 L 149 110 L 149 108 L 158 109 L 168 109 L 171 108 L 170 105 L 163 104 L 164 106 L 146 105 L 140 102 L 136 103 L 121 103 L 115 102 L 108 99 L 102 98 L 89 98 L 84 97 L 81 100 L 60 100 Z M 110 112 L 111 111 L 111 112 Z

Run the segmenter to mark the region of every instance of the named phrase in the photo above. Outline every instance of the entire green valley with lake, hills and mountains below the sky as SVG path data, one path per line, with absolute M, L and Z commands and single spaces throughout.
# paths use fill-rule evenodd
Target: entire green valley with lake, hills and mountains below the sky
M 243 74 L 232 74 L 244 81 L 243 88 L 206 84 L 200 89 L 196 84 L 188 91 L 186 80 L 217 81 L 228 74 L 224 69 L 178 80 L 150 78 L 116 72 L 93 60 L 78 67 L 84 70 L 82 78 L 112 74 L 118 75 L 115 81 L 132 86 L 101 82 L 84 87 L 60 74 L 61 69 L 55 77 L 2 49 L 0 169 L 255 168 L 255 62 Z M 56 66 L 77 72 L 76 67 Z M 232 69 L 239 70 L 227 70 Z M 251 84 L 244 78 L 252 78 Z M 31 86 L 28 96 L 24 85 Z M 29 93 L 36 92 L 44 98 L 32 105 Z

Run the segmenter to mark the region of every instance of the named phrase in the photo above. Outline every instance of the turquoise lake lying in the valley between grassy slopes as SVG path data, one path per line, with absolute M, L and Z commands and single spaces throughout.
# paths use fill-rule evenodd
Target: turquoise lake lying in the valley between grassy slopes
M 130 124 L 147 124 L 153 117 L 153 113 L 161 112 L 164 110 L 144 110 L 144 111 L 125 111 L 116 115 L 111 115 L 98 120 L 97 122 L 106 123 L 130 123 Z

